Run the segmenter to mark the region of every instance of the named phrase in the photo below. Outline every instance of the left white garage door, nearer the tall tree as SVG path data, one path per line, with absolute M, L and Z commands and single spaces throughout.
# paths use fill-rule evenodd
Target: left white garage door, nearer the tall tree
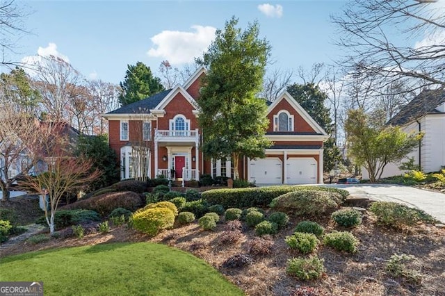
M 250 161 L 250 182 L 257 184 L 281 184 L 282 161 L 280 158 L 264 158 Z

